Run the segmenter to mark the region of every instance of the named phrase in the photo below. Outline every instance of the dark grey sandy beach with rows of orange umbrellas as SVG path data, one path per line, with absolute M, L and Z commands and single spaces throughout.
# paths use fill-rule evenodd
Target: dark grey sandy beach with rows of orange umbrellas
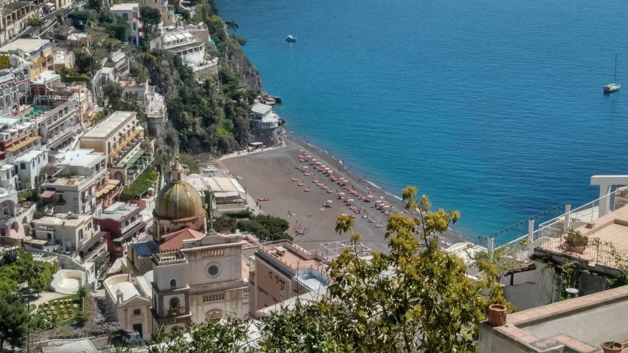
M 334 231 L 335 221 L 340 214 L 349 214 L 355 217 L 354 231 L 362 234 L 362 242 L 373 250 L 387 251 L 387 241 L 384 239 L 386 232 L 387 215 L 372 208 L 375 200 L 382 200 L 390 206 L 391 212 L 403 212 L 403 205 L 398 198 L 386 193 L 379 187 L 360 178 L 349 170 L 341 170 L 342 164 L 332 158 L 321 149 L 291 136 L 282 136 L 286 147 L 271 149 L 258 153 L 244 154 L 224 158 L 222 163 L 231 173 L 241 176 L 242 185 L 247 193 L 254 198 L 265 197 L 268 201 L 258 202 L 261 212 L 277 215 L 290 221 L 291 235 L 295 236 L 295 242 L 306 249 L 319 249 L 318 244 L 329 241 L 341 241 L 349 239 L 348 234 L 337 234 Z M 300 162 L 299 155 L 308 153 L 311 158 L 316 158 L 323 165 L 332 168 L 337 178 L 346 178 L 348 185 L 352 185 L 362 195 L 372 195 L 372 202 L 364 202 L 350 195 L 327 178 L 322 171 L 317 171 L 310 165 L 313 162 Z M 300 171 L 295 166 L 307 166 L 306 172 Z M 297 178 L 298 181 L 293 181 Z M 333 193 L 319 187 L 312 180 L 318 178 Z M 303 183 L 303 186 L 298 184 Z M 305 188 L 310 192 L 305 192 Z M 339 200 L 338 192 L 345 192 L 345 197 L 354 198 L 355 205 L 362 210 L 361 214 L 355 214 L 342 200 Z M 401 192 L 401 190 L 399 190 Z M 323 207 L 327 201 L 332 201 L 333 207 Z M 290 212 L 290 213 L 289 213 Z M 363 215 L 375 220 L 370 223 Z M 382 227 L 376 227 L 382 225 Z M 294 227 L 307 229 L 306 234 L 296 236 Z M 443 236 L 449 243 L 463 241 L 462 237 L 453 231 L 448 231 Z M 444 246 L 444 244 L 443 244 Z

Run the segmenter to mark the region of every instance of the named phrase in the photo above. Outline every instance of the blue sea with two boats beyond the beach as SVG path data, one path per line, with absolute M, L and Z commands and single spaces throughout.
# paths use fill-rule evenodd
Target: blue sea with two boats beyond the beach
M 470 239 L 628 173 L 628 1 L 217 3 L 289 131 L 460 210 Z

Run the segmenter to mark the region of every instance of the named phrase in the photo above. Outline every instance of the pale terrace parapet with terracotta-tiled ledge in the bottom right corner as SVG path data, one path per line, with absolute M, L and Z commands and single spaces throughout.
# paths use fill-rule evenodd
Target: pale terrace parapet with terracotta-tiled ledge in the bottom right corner
M 480 324 L 479 353 L 601 352 L 628 341 L 628 286 L 507 315 L 507 325 Z

